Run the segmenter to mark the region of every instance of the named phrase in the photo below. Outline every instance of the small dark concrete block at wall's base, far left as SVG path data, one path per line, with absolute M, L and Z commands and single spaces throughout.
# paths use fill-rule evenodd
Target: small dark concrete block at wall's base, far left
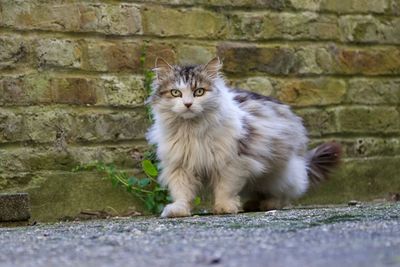
M 27 221 L 31 217 L 27 193 L 0 194 L 0 222 Z

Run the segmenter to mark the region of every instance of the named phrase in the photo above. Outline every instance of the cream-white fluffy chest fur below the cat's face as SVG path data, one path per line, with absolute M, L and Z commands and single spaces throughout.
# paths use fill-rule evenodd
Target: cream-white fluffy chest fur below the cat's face
M 237 119 L 224 127 L 209 127 L 207 124 L 181 124 L 176 131 L 164 129 L 157 123 L 150 135 L 158 144 L 158 155 L 162 164 L 180 166 L 196 176 L 215 173 L 238 157 L 237 138 L 240 128 Z M 228 127 L 227 127 L 228 126 Z

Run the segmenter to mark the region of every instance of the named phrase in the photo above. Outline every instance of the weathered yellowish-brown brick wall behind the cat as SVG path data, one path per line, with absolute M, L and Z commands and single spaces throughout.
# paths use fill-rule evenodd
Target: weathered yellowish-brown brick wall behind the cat
M 292 105 L 313 144 L 344 144 L 304 203 L 399 191 L 399 15 L 399 0 L 0 0 L 0 191 L 30 192 L 39 219 L 134 206 L 71 168 L 136 172 L 144 67 L 214 55 L 233 85 Z

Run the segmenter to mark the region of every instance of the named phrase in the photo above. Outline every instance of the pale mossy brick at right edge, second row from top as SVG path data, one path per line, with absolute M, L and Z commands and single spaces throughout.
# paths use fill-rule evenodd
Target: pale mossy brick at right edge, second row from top
M 351 15 L 339 19 L 343 41 L 400 43 L 400 18 Z

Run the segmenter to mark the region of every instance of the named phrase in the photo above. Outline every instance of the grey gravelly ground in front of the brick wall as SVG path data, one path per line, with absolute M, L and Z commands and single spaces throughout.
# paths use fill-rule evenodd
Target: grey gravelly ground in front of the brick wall
M 400 266 L 400 203 L 0 228 L 0 266 Z

